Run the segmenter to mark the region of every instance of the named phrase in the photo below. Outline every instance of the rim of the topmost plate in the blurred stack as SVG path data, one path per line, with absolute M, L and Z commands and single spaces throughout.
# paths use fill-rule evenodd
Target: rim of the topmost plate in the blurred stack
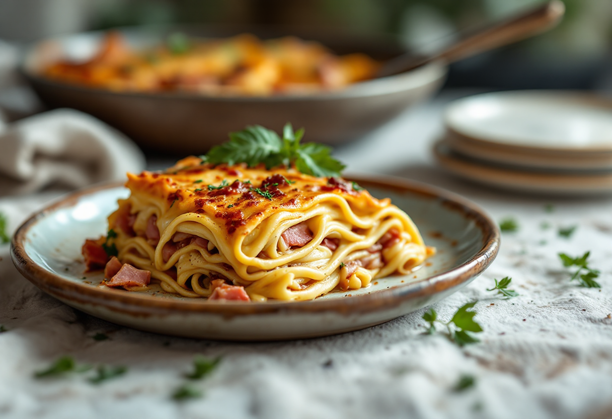
M 460 137 L 466 138 L 471 142 L 475 142 L 479 145 L 486 146 L 495 146 L 496 148 L 502 149 L 516 149 L 523 151 L 524 153 L 529 153 L 530 151 L 538 151 L 543 153 L 612 153 L 612 145 L 610 146 L 592 146 L 592 147 L 545 147 L 545 146 L 537 146 L 537 145 L 526 145 L 526 144 L 510 144 L 506 142 L 499 142 L 497 140 L 491 140 L 491 137 L 485 137 L 484 135 L 473 135 L 468 132 L 464 132 L 461 129 L 458 129 L 454 126 L 451 121 L 451 113 L 456 110 L 456 108 L 462 107 L 466 105 L 466 102 L 477 99 L 486 99 L 488 97 L 498 97 L 498 100 L 507 100 L 507 97 L 523 97 L 525 99 L 529 99 L 530 97 L 539 97 L 542 99 L 557 98 L 563 97 L 565 99 L 570 99 L 573 101 L 583 102 L 591 104 L 595 107 L 602 108 L 605 110 L 612 110 L 612 99 L 593 94 L 589 92 L 584 92 L 580 90 L 572 90 L 572 89 L 552 89 L 552 90 L 537 90 L 537 89 L 524 89 L 524 90 L 507 90 L 507 91 L 496 91 L 496 92 L 487 92 L 487 93 L 479 93 L 473 94 L 470 96 L 461 97 L 460 99 L 455 99 L 450 104 L 447 105 L 444 110 L 444 126 L 448 130 L 448 132 L 452 135 L 458 135 Z M 528 137 L 526 137 L 528 138 Z

